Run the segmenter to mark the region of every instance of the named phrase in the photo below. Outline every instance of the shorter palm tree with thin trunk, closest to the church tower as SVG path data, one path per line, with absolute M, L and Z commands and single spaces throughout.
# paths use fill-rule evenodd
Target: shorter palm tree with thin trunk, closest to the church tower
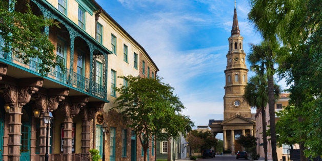
M 249 79 L 245 87 L 244 98 L 251 107 L 256 107 L 261 111 L 261 123 L 263 127 L 263 146 L 265 161 L 267 161 L 267 134 L 266 134 L 266 111 L 268 102 L 267 76 L 255 75 Z M 279 86 L 275 85 L 275 96 L 279 94 Z

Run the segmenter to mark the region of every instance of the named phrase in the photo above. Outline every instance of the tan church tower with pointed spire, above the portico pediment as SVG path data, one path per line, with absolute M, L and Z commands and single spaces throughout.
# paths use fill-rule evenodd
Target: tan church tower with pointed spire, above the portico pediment
M 228 119 L 238 114 L 245 118 L 251 118 L 250 106 L 244 100 L 244 89 L 247 85 L 247 73 L 243 50 L 243 37 L 240 36 L 238 26 L 236 3 L 234 9 L 233 25 L 231 36 L 228 38 L 229 51 L 226 55 L 227 66 L 225 70 L 226 86 L 224 96 L 224 119 Z

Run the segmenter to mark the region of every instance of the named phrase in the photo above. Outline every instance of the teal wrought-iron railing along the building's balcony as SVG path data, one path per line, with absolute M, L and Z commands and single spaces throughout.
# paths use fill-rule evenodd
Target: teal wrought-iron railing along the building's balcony
M 39 60 L 37 58 L 32 58 L 30 59 L 29 63 L 24 64 L 21 58 L 12 56 L 11 53 L 0 51 L 0 59 L 4 59 L 25 69 L 39 73 Z M 64 74 L 59 67 L 51 68 L 50 72 L 47 73 L 47 77 L 55 79 L 56 81 L 65 84 L 66 86 L 74 87 L 81 91 L 106 99 L 106 87 L 90 81 L 89 78 L 86 78 L 81 74 L 77 74 L 72 69 L 65 68 L 65 71 L 66 72 Z

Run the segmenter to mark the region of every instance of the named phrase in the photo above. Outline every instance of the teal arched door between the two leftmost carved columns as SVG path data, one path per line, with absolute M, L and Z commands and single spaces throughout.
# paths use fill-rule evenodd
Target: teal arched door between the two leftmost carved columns
M 30 138 L 31 138 L 31 120 L 30 120 L 30 111 L 27 112 L 26 109 L 32 109 L 25 105 L 22 109 L 22 126 L 21 126 L 21 147 L 20 147 L 20 160 L 21 161 L 29 161 L 30 160 Z M 25 108 L 26 107 L 26 108 Z

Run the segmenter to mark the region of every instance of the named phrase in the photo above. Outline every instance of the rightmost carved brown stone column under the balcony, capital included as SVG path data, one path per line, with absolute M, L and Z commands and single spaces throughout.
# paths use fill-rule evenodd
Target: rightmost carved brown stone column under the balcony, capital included
M 83 124 L 82 124 L 82 155 L 90 157 L 90 123 L 95 117 L 96 112 L 104 107 L 104 102 L 90 102 L 87 107 L 82 108 Z M 95 126 L 93 127 L 95 129 Z M 94 137 L 94 136 L 93 136 Z

